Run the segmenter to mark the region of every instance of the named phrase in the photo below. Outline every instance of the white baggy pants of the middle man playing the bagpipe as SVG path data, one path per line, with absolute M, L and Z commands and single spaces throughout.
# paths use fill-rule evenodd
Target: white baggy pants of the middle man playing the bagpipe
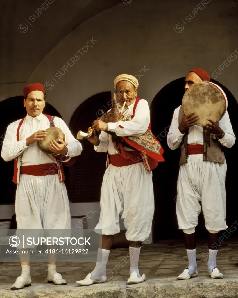
M 121 216 L 127 240 L 147 239 L 154 216 L 152 172 L 146 172 L 143 162 L 124 167 L 109 164 L 103 177 L 100 206 L 95 229 L 102 229 L 103 235 L 120 232 Z

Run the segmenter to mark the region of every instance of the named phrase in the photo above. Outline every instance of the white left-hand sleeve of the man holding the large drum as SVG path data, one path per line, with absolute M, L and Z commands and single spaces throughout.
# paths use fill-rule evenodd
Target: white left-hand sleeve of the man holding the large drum
M 167 135 L 167 144 L 169 148 L 172 150 L 178 148 L 183 137 L 184 134 L 179 131 L 179 108 L 176 108 L 174 110 L 173 119 Z

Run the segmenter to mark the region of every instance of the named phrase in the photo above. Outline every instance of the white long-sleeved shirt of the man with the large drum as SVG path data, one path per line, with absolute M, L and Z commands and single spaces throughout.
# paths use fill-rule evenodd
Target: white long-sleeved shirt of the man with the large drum
M 170 149 L 174 150 L 179 147 L 184 134 L 181 134 L 179 131 L 179 109 L 181 105 L 174 110 L 173 119 L 169 128 L 167 135 L 167 144 Z M 236 140 L 234 135 L 229 114 L 226 111 L 222 119 L 218 122 L 220 128 L 225 132 L 225 135 L 222 139 L 219 139 L 219 142 L 227 147 L 231 148 Z M 190 126 L 188 129 L 188 144 L 200 144 L 203 145 L 203 127 L 198 125 Z

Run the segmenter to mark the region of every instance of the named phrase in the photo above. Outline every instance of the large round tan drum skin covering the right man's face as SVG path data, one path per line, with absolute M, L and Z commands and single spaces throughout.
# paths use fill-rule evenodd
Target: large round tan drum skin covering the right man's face
M 184 93 L 182 101 L 185 116 L 196 114 L 198 126 L 206 126 L 208 119 L 218 122 L 226 112 L 227 102 L 218 86 L 209 82 L 192 85 Z

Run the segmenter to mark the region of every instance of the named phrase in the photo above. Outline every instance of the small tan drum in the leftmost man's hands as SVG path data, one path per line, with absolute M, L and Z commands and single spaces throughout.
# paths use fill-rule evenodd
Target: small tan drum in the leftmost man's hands
M 44 153 L 54 154 L 51 150 L 49 150 L 49 142 L 51 140 L 55 140 L 57 143 L 60 143 L 59 139 L 60 140 L 64 139 L 64 133 L 58 127 L 49 127 L 46 129 L 46 132 L 47 132 L 47 136 L 44 137 L 43 141 L 37 142 L 38 147 Z

